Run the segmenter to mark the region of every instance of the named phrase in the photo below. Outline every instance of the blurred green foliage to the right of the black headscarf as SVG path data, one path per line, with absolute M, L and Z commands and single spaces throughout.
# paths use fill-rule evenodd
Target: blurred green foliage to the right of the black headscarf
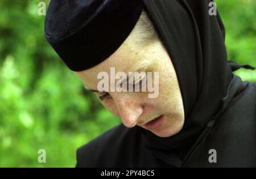
M 256 1 L 215 0 L 226 27 L 229 60 L 256 67 Z M 256 71 L 241 69 L 234 74 L 256 82 Z

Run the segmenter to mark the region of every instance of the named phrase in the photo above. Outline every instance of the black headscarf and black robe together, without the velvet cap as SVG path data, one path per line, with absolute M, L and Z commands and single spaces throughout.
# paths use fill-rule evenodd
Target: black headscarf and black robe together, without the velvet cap
M 232 74 L 241 66 L 228 63 L 220 15 L 209 15 L 209 0 L 143 3 L 176 70 L 184 127 L 160 138 L 118 126 L 80 148 L 77 167 L 256 167 L 256 85 Z

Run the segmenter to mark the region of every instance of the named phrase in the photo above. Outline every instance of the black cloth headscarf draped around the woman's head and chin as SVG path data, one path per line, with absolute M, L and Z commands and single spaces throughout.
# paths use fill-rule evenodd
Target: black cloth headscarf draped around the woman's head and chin
M 219 14 L 209 15 L 210 0 L 143 2 L 174 64 L 185 110 L 180 133 L 160 138 L 145 130 L 147 146 L 159 157 L 175 152 L 183 160 L 218 111 L 225 110 L 232 70 L 251 67 L 228 62 L 225 28 Z

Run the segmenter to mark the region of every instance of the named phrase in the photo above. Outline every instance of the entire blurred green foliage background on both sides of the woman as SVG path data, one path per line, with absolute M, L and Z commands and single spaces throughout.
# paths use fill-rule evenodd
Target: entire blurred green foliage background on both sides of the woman
M 74 167 L 78 147 L 120 122 L 47 44 L 38 2 L 0 0 L 0 167 Z M 216 2 L 229 59 L 256 66 L 255 1 Z M 256 82 L 255 71 L 236 74 Z

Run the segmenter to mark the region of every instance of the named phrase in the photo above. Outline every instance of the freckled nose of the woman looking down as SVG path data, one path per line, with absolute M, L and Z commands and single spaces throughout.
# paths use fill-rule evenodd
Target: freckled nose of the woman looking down
M 137 125 L 144 108 L 139 98 L 130 94 L 116 93 L 113 95 L 113 99 L 123 125 L 126 127 L 134 127 Z

